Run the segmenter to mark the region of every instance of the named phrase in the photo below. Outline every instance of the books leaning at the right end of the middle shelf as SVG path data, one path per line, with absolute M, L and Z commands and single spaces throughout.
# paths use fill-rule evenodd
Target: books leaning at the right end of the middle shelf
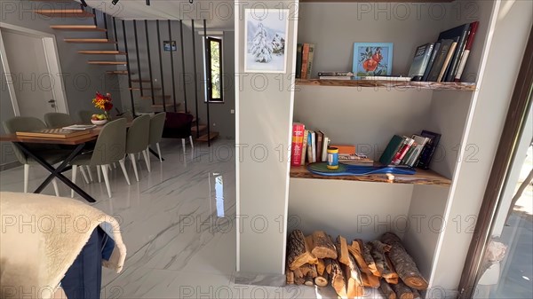
M 394 135 L 381 154 L 379 162 L 384 165 L 418 167 L 429 169 L 436 147 L 441 139 L 441 134 L 423 130 L 419 135 L 407 136 Z

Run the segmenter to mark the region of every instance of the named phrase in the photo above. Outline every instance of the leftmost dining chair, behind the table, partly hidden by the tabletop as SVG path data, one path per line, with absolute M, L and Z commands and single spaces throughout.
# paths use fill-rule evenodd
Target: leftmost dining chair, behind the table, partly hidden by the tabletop
M 4 130 L 9 134 L 14 134 L 17 131 L 32 131 L 41 129 L 46 129 L 46 124 L 36 117 L 15 116 L 7 121 L 4 121 Z M 29 167 L 40 164 L 35 159 L 22 152 L 19 147 L 15 145 L 12 146 L 15 156 L 20 163 L 24 165 L 24 193 L 28 193 Z M 65 158 L 68 156 L 68 151 L 61 150 L 57 146 L 53 145 L 28 144 L 27 146 L 38 150 L 44 161 L 47 161 L 49 164 L 59 163 L 60 161 L 65 160 Z M 56 196 L 60 196 L 58 182 L 55 178 L 52 179 L 52 185 Z

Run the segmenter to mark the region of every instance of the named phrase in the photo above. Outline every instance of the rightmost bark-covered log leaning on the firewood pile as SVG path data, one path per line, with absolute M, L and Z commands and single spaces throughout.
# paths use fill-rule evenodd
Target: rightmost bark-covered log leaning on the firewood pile
M 418 290 L 427 289 L 427 281 L 424 279 L 417 264 L 412 257 L 403 248 L 402 240 L 393 232 L 386 232 L 381 236 L 381 241 L 390 245 L 387 256 L 391 259 L 394 269 L 398 273 L 400 279 L 408 286 Z M 412 295 L 412 293 L 411 293 Z

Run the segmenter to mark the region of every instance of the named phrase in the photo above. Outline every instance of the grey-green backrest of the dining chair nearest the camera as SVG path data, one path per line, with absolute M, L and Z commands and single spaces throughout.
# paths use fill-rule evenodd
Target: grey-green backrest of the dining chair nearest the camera
M 126 151 L 126 120 L 107 122 L 101 129 L 92 151 L 91 166 L 104 165 L 123 159 Z

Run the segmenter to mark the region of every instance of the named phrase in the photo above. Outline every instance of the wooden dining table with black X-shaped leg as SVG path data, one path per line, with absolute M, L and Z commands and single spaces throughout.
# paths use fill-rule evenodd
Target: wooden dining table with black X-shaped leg
M 96 202 L 96 200 L 94 200 L 91 195 L 84 192 L 82 188 L 73 183 L 70 179 L 68 179 L 68 177 L 65 177 L 63 175 L 63 172 L 71 169 L 71 166 L 69 165 L 70 161 L 76 158 L 78 154 L 82 153 L 84 147 L 88 143 L 91 143 L 92 141 L 95 141 L 98 138 L 101 129 L 102 126 L 97 126 L 96 128 L 91 129 L 88 133 L 84 135 L 78 135 L 67 138 L 27 137 L 20 136 L 17 134 L 4 134 L 0 135 L 0 141 L 12 142 L 12 144 L 14 146 L 17 146 L 20 151 L 26 153 L 29 157 L 35 159 L 39 164 L 44 167 L 44 169 L 50 172 L 50 175 L 44 179 L 43 183 L 41 183 L 41 185 L 36 188 L 36 191 L 34 193 L 43 192 L 44 187 L 50 184 L 50 182 L 52 182 L 52 179 L 56 177 L 60 179 L 61 182 L 65 183 L 65 185 L 68 185 L 68 187 L 72 188 L 80 196 L 82 196 L 85 201 Z M 45 161 L 42 156 L 40 156 L 38 149 L 36 150 L 35 148 L 32 148 L 32 146 L 28 146 L 28 144 L 72 146 L 73 149 L 72 152 L 68 154 L 68 157 L 65 158 L 65 160 L 62 161 L 58 167 L 54 167 L 52 164 Z

